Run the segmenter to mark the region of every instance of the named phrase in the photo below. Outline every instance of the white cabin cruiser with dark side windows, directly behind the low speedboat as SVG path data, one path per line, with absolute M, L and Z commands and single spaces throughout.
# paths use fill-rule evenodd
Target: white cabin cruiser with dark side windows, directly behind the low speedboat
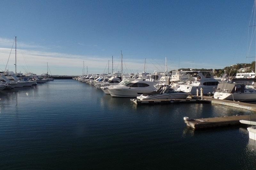
M 127 85 L 110 86 L 108 92 L 112 97 L 137 97 L 155 91 L 156 84 L 155 81 L 134 80 Z

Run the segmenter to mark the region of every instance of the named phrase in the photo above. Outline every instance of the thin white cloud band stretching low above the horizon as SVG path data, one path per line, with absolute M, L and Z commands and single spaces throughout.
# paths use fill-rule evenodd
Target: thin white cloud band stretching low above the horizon
M 2 60 L 2 62 L 0 62 L 0 67 L 2 70 L 4 70 L 5 65 L 1 63 L 7 63 L 10 51 L 10 48 L 0 48 L 0 58 Z M 23 56 L 25 59 L 23 58 Z M 83 61 L 85 66 L 88 66 L 90 73 L 102 73 L 104 70 L 106 73 L 108 70 L 108 60 L 111 59 L 107 56 L 72 55 L 65 53 L 50 53 L 36 50 L 22 50 L 22 53 L 20 50 L 18 50 L 17 52 L 18 71 L 25 72 L 25 70 L 22 69 L 27 68 L 26 66 L 28 65 L 28 68 L 36 68 L 36 70 L 34 69 L 33 72 L 36 72 L 37 74 L 42 73 L 42 70 L 40 70 L 40 72 L 38 72 L 38 70 L 40 69 L 40 67 L 45 68 L 46 62 L 48 62 L 52 66 L 52 68 L 54 68 L 52 69 L 54 70 L 54 74 L 79 75 L 79 73 L 82 72 L 80 70 L 82 70 Z M 118 59 L 117 61 L 114 63 L 113 66 L 114 71 L 120 70 L 121 67 L 120 59 Z M 8 64 L 10 69 L 14 69 L 13 63 L 15 63 L 14 52 L 12 52 Z M 143 70 L 144 59 L 130 60 L 127 58 L 123 60 L 123 63 L 125 65 L 125 72 L 141 72 Z M 111 70 L 111 61 L 109 65 Z M 152 72 L 153 70 L 160 70 L 160 66 L 156 67 L 154 64 L 152 64 L 152 62 L 146 63 L 146 66 L 147 70 L 150 72 Z M 162 66 L 162 68 L 163 67 L 164 66 Z

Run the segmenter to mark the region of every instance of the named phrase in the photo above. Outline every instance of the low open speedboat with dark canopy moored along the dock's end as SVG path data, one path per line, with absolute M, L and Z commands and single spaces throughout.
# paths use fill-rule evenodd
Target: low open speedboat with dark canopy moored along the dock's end
M 166 87 L 166 88 L 163 88 Z M 161 85 L 154 92 L 143 93 L 137 97 L 139 100 L 160 100 L 160 99 L 186 99 L 190 93 L 177 92 L 171 86 Z

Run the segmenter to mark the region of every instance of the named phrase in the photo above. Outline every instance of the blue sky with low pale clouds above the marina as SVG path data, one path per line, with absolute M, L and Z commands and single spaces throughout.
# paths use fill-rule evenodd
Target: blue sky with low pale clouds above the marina
M 141 71 L 145 58 L 150 72 L 163 71 L 165 57 L 169 70 L 251 63 L 246 53 L 253 3 L 0 1 L 0 69 L 14 36 L 17 70 L 37 74 L 45 72 L 48 62 L 52 74 L 79 75 L 83 61 L 88 72 L 100 73 L 112 55 L 116 70 L 121 50 L 126 72 Z M 13 56 L 12 51 L 7 66 L 12 71 Z

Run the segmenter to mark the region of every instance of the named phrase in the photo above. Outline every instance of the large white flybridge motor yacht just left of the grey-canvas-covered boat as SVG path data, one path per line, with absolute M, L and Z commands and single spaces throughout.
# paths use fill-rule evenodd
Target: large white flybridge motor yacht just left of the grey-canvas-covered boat
M 192 80 L 185 83 L 180 82 L 175 87 L 176 91 L 190 92 L 196 95 L 196 89 L 203 89 L 204 94 L 212 93 L 216 90 L 219 82 L 212 77 L 210 71 L 189 71 L 188 74 L 192 76 Z

